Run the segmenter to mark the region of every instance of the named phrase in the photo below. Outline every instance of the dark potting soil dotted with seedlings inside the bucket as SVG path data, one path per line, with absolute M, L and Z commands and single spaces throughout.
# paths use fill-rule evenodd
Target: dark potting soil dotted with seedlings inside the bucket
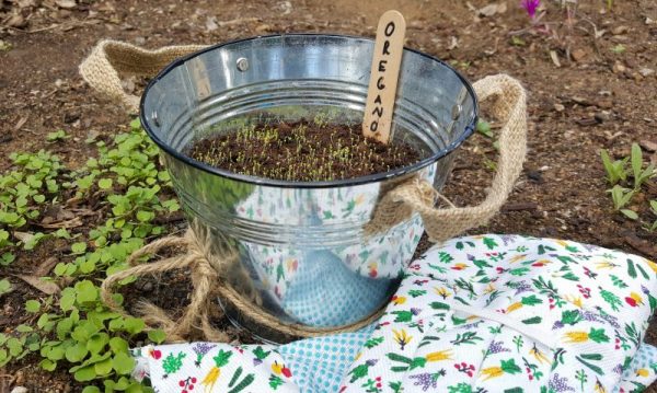
M 309 120 L 257 125 L 199 139 L 187 154 L 233 173 L 296 182 L 360 177 L 420 159 L 408 145 L 366 138 L 360 125 Z

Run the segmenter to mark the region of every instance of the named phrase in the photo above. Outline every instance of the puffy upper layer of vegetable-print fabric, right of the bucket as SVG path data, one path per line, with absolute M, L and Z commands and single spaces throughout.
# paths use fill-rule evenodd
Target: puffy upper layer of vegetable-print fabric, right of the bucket
M 410 266 L 343 391 L 613 391 L 657 307 L 654 268 L 574 242 L 449 241 Z

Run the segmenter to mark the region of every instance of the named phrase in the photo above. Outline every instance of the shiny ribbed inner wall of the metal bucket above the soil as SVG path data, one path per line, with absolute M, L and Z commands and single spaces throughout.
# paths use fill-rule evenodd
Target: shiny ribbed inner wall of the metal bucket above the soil
M 161 148 L 196 167 L 261 184 L 293 183 L 231 174 L 195 161 L 185 151 L 197 139 L 254 124 L 319 116 L 359 125 L 372 50 L 371 39 L 313 34 L 216 46 L 173 62 L 149 84 L 141 103 L 142 124 Z M 436 162 L 472 134 L 476 112 L 473 90 L 458 72 L 405 49 L 391 138 L 413 147 L 420 161 L 389 173 L 328 183 L 368 183 Z

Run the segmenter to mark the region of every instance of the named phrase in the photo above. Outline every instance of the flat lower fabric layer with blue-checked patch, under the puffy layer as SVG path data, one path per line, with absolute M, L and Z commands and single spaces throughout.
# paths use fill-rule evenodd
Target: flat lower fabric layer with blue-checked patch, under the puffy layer
M 279 347 L 211 343 L 148 346 L 134 350 L 138 360 L 134 375 L 139 380 L 148 379 L 158 393 L 230 392 L 235 385 L 234 382 L 230 385 L 235 374 L 239 378 L 245 370 L 246 377 L 253 374 L 253 378 L 246 379 L 242 388 L 239 388 L 244 392 L 338 392 L 343 373 L 347 371 L 369 334 L 370 331 L 366 330 L 361 333 L 303 339 Z M 203 356 L 198 362 L 199 352 L 204 350 L 207 350 L 205 355 L 209 356 Z M 217 361 L 214 358 L 220 350 L 222 354 L 230 351 L 232 355 L 226 366 L 215 370 Z M 264 357 L 266 362 L 261 362 L 258 357 Z M 166 369 L 171 374 L 166 373 L 164 361 L 168 361 Z M 285 366 L 286 373 L 291 374 L 291 378 L 288 379 L 284 374 L 284 368 L 279 365 Z M 612 392 L 638 393 L 656 379 L 657 348 L 643 344 L 631 367 L 624 371 L 621 384 Z M 397 389 L 396 385 L 388 388 L 383 389 L 383 392 Z M 403 388 L 405 392 L 422 392 L 422 388 L 416 385 Z M 366 392 L 367 389 L 361 391 Z

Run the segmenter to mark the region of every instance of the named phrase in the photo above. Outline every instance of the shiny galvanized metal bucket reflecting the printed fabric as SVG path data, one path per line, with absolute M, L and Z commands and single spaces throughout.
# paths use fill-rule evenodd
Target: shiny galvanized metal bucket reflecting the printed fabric
M 472 86 L 448 65 L 405 49 L 393 142 L 416 149 L 407 167 L 334 182 L 286 182 L 230 173 L 185 155 L 198 138 L 255 123 L 324 116 L 362 118 L 373 41 L 289 34 L 214 46 L 154 78 L 141 122 L 163 150 L 174 187 L 200 239 L 239 261 L 226 276 L 283 322 L 334 327 L 371 315 L 395 291 L 423 233 L 417 215 L 367 233 L 387 189 L 419 176 L 440 189 L 453 154 L 474 128 Z M 216 245 L 216 246 L 215 246 Z M 223 302 L 228 316 L 265 338 Z

